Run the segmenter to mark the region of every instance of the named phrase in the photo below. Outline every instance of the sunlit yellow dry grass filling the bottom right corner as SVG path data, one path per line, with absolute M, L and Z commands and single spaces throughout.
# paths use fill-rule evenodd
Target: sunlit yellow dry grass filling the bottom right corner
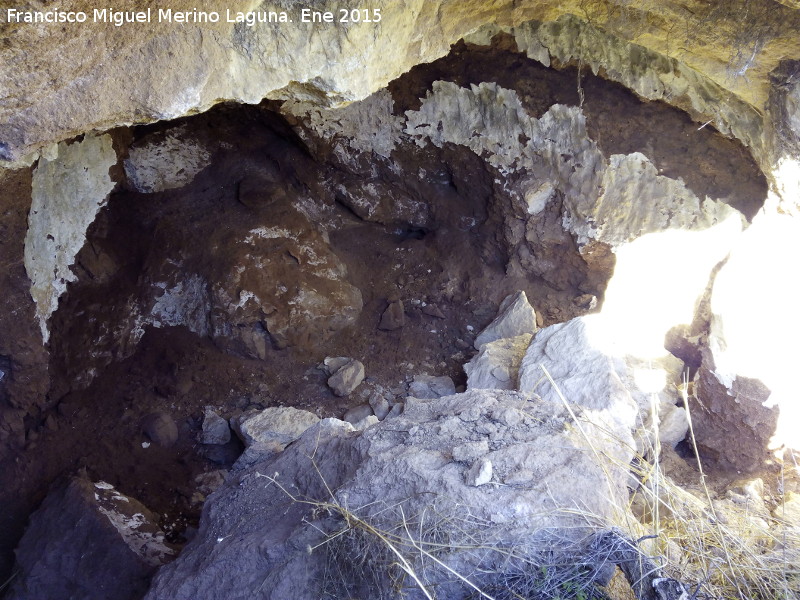
M 688 407 L 686 390 L 684 385 Z M 699 459 L 698 493 L 681 488 L 661 472 L 659 451 L 651 449 L 650 461 L 636 461 L 632 473 L 644 504 L 639 510 L 649 515 L 656 536 L 649 545 L 665 557 L 665 571 L 693 584 L 697 599 L 800 598 L 800 529 L 781 526 L 756 501 L 715 498 Z

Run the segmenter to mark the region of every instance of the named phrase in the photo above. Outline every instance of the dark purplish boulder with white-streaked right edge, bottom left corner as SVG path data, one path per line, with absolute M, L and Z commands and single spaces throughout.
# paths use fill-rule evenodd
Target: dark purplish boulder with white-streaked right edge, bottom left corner
M 31 517 L 6 598 L 141 598 L 155 570 L 176 554 L 157 523 L 113 486 L 74 478 Z

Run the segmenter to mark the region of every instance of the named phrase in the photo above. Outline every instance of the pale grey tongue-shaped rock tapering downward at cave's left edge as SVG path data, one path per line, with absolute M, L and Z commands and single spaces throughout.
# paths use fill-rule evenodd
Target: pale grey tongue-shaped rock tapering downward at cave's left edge
M 25 270 L 45 343 L 50 337 L 47 320 L 67 283 L 76 279 L 70 266 L 86 241 L 86 230 L 114 188 L 108 170 L 116 163 L 111 136 L 87 135 L 82 142 L 60 143 L 57 154 L 40 159 L 34 170 Z

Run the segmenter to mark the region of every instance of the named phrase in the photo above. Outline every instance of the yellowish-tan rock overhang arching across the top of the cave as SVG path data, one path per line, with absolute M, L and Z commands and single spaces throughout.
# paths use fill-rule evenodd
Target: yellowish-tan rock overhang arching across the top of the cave
M 137 7 L 129 0 L 117 10 Z M 217 24 L 107 22 L 40 29 L 6 23 L 0 64 L 9 68 L 0 72 L 0 81 L 9 94 L 0 112 L 2 158 L 19 160 L 45 143 L 91 129 L 205 110 L 221 99 L 310 98 L 322 105 L 361 99 L 413 65 L 444 55 L 459 38 L 474 34 L 472 39 L 485 41 L 498 28 L 513 31 L 538 60 L 580 61 L 645 97 L 682 103 L 758 147 L 769 73 L 797 54 L 793 32 L 800 20 L 793 8 L 771 0 L 649 0 L 636 6 L 619 0 L 508 0 L 491 7 L 383 0 L 372 7 L 380 11 L 379 23 L 301 23 L 293 3 L 255 1 L 237 8 L 285 11 L 294 22 L 227 23 L 228 6 L 211 2 L 203 9 L 222 13 Z M 60 6 L 90 16 L 93 8 L 85 0 Z M 165 2 L 159 8 L 178 6 Z M 337 16 L 353 8 L 335 1 L 315 6 Z

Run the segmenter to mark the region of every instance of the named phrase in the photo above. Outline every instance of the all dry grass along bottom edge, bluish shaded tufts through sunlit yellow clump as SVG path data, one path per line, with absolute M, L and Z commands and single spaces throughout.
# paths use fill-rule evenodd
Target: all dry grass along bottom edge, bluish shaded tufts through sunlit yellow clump
M 586 436 L 582 417 L 562 400 L 601 464 L 613 460 Z M 322 541 L 308 549 L 325 553 L 323 598 L 630 600 L 631 586 L 619 573 L 612 586 L 598 585 L 607 582 L 609 566 L 613 569 L 608 559 L 618 548 L 609 552 L 596 540 L 620 524 L 624 529 L 614 539 L 659 576 L 683 582 L 682 600 L 800 598 L 800 529 L 777 527 L 768 513 L 749 504 L 720 504 L 699 463 L 699 492 L 691 493 L 661 471 L 657 444 L 645 454 L 647 459 L 638 456 L 626 465 L 632 503 L 618 507 L 617 523 L 564 507 L 560 512 L 576 522 L 574 529 L 538 531 L 513 542 L 491 539 L 493 524 L 471 515 L 469 507 L 431 506 L 413 515 L 403 503 L 351 508 L 331 490 L 324 500 L 303 499 L 275 477 L 261 476 L 309 505 L 312 526 L 333 523 L 320 528 Z M 631 518 L 632 509 L 645 524 Z M 633 539 L 639 542 L 628 541 Z

